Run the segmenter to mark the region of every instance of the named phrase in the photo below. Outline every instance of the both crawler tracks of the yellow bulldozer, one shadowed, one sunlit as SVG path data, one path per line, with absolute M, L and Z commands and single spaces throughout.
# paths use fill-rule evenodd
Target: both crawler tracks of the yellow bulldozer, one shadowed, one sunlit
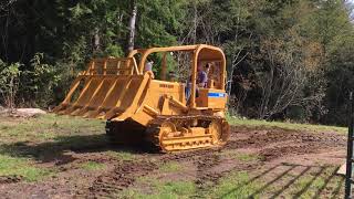
M 159 116 L 147 127 L 131 121 L 108 121 L 106 134 L 114 143 L 144 143 L 159 151 L 176 151 L 223 146 L 229 125 L 216 116 Z

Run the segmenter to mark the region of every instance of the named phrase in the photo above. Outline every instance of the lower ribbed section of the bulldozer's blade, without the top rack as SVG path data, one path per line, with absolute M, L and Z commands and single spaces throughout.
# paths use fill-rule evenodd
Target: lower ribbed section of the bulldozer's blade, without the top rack
M 147 75 L 97 75 L 85 81 L 79 97 L 62 103 L 54 112 L 85 118 L 112 118 L 129 111 L 133 101 L 142 97 Z M 76 86 L 74 90 L 79 90 Z

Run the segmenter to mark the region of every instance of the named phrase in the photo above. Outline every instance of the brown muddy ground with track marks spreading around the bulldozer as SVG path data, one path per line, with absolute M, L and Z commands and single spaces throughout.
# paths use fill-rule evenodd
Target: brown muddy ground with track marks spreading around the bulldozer
M 232 189 L 217 192 L 216 198 L 240 196 L 242 187 L 254 182 L 258 185 L 240 198 L 343 197 L 344 178 L 335 171 L 345 160 L 346 137 L 337 133 L 233 126 L 223 148 L 176 154 L 113 146 L 102 137 L 102 133 L 90 135 L 90 140 L 97 142 L 85 145 L 80 144 L 85 142 L 80 135 L 69 144 L 2 144 L 11 156 L 29 157 L 37 167 L 54 168 L 55 174 L 38 181 L 0 176 L 0 198 L 138 198 L 134 191 L 154 195 L 152 185 L 156 181 L 163 185 L 180 180 L 195 187 L 186 198 L 214 198 L 208 192 L 225 186 L 235 172 L 248 178 L 235 182 L 240 185 Z M 100 167 L 86 169 L 82 166 L 85 163 Z

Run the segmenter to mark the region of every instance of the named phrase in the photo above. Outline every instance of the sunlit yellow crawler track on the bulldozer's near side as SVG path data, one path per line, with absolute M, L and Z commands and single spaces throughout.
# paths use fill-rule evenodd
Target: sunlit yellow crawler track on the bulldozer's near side
M 146 130 L 147 140 L 162 151 L 223 146 L 229 125 L 215 116 L 160 116 Z

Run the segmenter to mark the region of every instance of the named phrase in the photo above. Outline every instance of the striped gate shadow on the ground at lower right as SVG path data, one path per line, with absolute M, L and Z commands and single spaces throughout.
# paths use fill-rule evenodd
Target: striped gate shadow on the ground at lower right
M 280 164 L 275 165 L 261 174 L 254 176 L 250 180 L 248 180 L 242 186 L 239 186 L 229 192 L 225 193 L 220 198 L 228 198 L 232 196 L 233 192 L 238 192 L 238 190 L 243 187 L 254 182 L 256 180 L 266 178 L 266 175 L 275 172 L 277 169 L 280 169 L 281 172 L 277 174 L 272 178 L 268 178 L 267 182 L 254 190 L 252 193 L 244 198 L 256 198 L 257 196 L 262 196 L 264 193 L 268 195 L 267 198 L 281 198 L 283 196 L 291 196 L 292 198 L 321 198 L 322 195 L 331 196 L 329 198 L 342 198 L 343 197 L 343 187 L 344 187 L 344 177 L 336 175 L 336 170 L 339 167 L 333 166 L 303 166 L 303 165 L 294 165 L 294 164 Z M 296 175 L 290 175 L 294 169 L 301 169 L 301 171 Z M 315 171 L 314 171 L 315 170 Z M 289 176 L 291 178 L 289 179 Z M 300 179 L 308 179 L 304 181 L 299 189 L 294 190 L 295 184 Z M 321 178 L 321 184 L 316 184 L 315 181 Z M 275 186 L 277 182 L 281 182 L 281 186 Z M 275 189 L 273 187 L 277 187 Z M 299 186 L 299 185 L 298 185 Z M 291 190 L 291 193 L 289 192 Z M 272 191 L 270 191 L 272 190 Z M 306 192 L 310 191 L 312 197 L 305 196 Z

